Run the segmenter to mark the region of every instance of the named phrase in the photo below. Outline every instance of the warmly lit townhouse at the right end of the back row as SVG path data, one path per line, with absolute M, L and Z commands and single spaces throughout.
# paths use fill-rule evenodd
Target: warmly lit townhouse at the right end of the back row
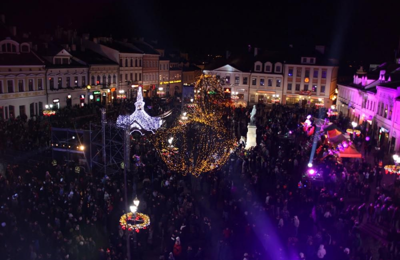
M 324 56 L 324 46 L 315 46 L 308 54 L 288 53 L 284 64 L 283 104 L 313 106 L 323 103 L 329 108 L 336 98 L 337 61 Z

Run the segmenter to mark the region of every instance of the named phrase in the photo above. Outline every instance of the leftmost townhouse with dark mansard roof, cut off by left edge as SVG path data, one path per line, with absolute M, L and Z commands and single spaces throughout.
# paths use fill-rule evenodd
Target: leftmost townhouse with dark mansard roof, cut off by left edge
M 44 61 L 29 43 L 13 40 L 5 28 L 1 30 L 0 118 L 39 116 L 47 103 Z

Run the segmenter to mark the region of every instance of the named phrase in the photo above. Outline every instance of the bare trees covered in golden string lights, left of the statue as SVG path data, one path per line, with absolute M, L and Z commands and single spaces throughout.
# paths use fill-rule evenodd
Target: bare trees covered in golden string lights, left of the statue
M 193 114 L 151 136 L 170 170 L 199 176 L 226 162 L 236 141 L 221 122 L 223 91 L 215 75 L 200 75 L 194 84 Z

